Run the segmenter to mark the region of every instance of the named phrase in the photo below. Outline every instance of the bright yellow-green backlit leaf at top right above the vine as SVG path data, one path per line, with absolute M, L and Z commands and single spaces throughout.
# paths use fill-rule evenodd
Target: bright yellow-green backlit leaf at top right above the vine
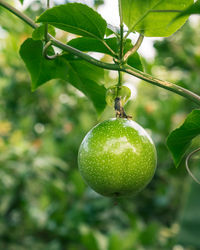
M 150 37 L 166 37 L 185 23 L 187 17 L 175 22 L 172 20 L 177 13 L 193 2 L 193 0 L 123 0 L 123 19 L 131 32 L 137 31 Z

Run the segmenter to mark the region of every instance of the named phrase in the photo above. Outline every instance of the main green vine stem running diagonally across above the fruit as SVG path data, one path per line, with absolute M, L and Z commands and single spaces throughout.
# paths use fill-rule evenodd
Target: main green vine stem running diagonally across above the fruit
M 38 25 L 35 24 L 32 19 L 27 17 L 25 14 L 23 14 L 22 12 L 20 12 L 19 10 L 17 10 L 13 6 L 11 6 L 10 4 L 6 3 L 4 0 L 0 0 L 0 6 L 3 6 L 4 8 L 6 8 L 10 12 L 12 12 L 14 15 L 18 16 L 21 20 L 23 20 L 25 23 L 27 23 L 32 28 L 35 29 L 38 27 Z M 105 63 L 105 62 L 99 61 L 99 60 L 89 56 L 88 54 L 83 53 L 80 50 L 77 50 L 69 45 L 66 45 L 66 44 L 56 40 L 50 34 L 48 34 L 48 37 L 51 39 L 52 45 L 66 51 L 66 52 L 69 52 L 75 56 L 78 56 L 79 58 L 82 58 L 83 60 L 85 60 L 93 65 L 96 65 L 98 67 L 108 69 L 108 70 L 122 71 L 122 72 L 128 73 L 132 76 L 140 78 L 140 79 L 142 79 L 146 82 L 149 82 L 153 85 L 159 86 L 161 88 L 172 91 L 180 96 L 183 96 L 183 97 L 189 99 L 190 101 L 193 101 L 198 106 L 200 106 L 200 96 L 198 96 L 197 94 L 195 94 L 195 93 L 193 93 L 185 88 L 182 88 L 176 84 L 173 84 L 173 83 L 170 83 L 170 82 L 167 82 L 164 80 L 160 80 L 156 77 L 153 77 L 149 74 L 146 74 L 142 71 L 139 71 L 139 70 L 127 65 L 127 64 L 118 65 L 118 64 L 111 64 L 111 63 Z

